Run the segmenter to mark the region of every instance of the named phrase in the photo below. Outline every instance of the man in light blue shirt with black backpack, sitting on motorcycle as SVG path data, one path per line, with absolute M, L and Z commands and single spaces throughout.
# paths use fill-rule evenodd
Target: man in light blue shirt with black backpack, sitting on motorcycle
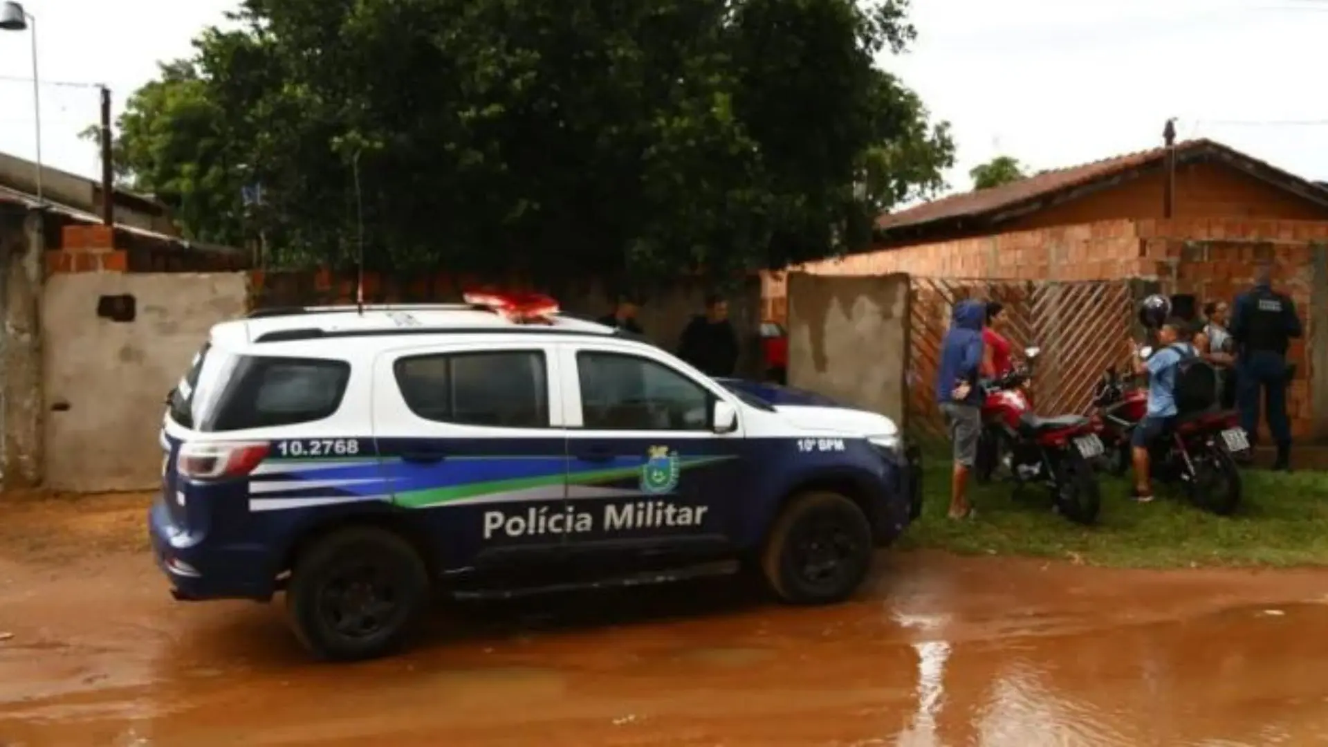
M 1149 404 L 1143 420 L 1130 436 L 1134 461 L 1134 500 L 1153 500 L 1149 480 L 1149 448 L 1171 431 L 1181 415 L 1211 408 L 1218 399 L 1218 377 L 1212 366 L 1190 344 L 1190 324 L 1170 318 L 1158 330 L 1158 350 L 1143 360 L 1134 350 L 1134 370 L 1149 376 Z

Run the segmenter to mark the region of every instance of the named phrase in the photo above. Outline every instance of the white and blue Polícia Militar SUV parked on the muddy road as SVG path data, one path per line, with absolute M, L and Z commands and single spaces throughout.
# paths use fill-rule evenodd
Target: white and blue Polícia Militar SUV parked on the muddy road
M 737 560 L 786 602 L 835 602 L 920 500 L 890 419 L 710 379 L 529 294 L 216 324 L 161 447 L 149 524 L 174 597 L 284 589 L 328 659 L 397 645 L 433 589 Z

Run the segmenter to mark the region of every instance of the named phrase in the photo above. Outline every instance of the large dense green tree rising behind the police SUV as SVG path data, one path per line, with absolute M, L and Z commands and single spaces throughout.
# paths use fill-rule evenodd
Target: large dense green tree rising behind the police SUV
M 907 0 L 244 0 L 118 122 L 121 178 L 282 261 L 659 272 L 870 239 L 946 124 Z M 254 203 L 251 187 L 262 186 Z

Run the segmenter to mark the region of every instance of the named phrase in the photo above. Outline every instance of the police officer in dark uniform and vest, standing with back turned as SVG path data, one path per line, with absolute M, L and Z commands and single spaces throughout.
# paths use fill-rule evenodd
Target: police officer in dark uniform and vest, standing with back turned
M 1287 294 L 1272 290 L 1272 265 L 1255 268 L 1254 288 L 1231 304 L 1231 338 L 1236 348 L 1236 403 L 1240 424 L 1254 440 L 1259 428 L 1259 393 L 1268 409 L 1268 431 L 1278 444 L 1274 469 L 1291 469 L 1291 424 L 1287 420 L 1287 344 L 1303 331 Z

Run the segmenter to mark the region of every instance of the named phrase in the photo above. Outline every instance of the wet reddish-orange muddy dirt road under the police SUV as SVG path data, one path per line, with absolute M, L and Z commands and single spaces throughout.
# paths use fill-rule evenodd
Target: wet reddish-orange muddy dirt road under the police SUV
M 831 609 L 729 582 L 467 605 L 328 666 L 279 606 L 171 602 L 142 501 L 0 506 L 0 744 L 1328 743 L 1324 573 L 884 554 Z

